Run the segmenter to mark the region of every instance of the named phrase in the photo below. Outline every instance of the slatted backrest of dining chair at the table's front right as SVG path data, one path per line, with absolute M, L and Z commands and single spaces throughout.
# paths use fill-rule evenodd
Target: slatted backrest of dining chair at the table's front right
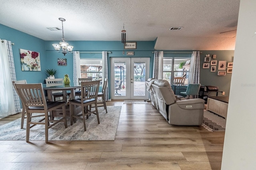
M 81 82 L 81 99 L 97 100 L 99 87 L 100 87 L 100 80 Z

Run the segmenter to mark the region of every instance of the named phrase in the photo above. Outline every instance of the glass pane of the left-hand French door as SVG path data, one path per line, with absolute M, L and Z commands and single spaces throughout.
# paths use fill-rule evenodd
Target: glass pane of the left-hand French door
M 126 96 L 126 62 L 114 62 L 115 96 Z

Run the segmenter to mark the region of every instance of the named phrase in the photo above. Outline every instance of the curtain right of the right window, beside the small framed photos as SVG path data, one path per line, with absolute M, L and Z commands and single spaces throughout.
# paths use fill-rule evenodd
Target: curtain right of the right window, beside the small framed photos
M 190 60 L 188 84 L 200 83 L 200 51 L 193 51 Z

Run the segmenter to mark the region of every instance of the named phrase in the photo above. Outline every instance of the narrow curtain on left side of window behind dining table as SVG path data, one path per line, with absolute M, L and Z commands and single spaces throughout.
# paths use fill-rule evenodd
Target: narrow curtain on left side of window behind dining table
M 80 52 L 73 51 L 73 82 L 74 86 L 78 86 L 78 78 L 81 78 L 81 68 L 80 68 Z

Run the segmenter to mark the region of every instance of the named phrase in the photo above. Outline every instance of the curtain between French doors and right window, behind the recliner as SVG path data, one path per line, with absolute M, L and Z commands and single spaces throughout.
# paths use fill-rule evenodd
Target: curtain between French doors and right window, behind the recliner
M 163 51 L 155 51 L 154 66 L 153 66 L 153 78 L 163 79 L 163 67 L 164 67 L 164 52 Z

